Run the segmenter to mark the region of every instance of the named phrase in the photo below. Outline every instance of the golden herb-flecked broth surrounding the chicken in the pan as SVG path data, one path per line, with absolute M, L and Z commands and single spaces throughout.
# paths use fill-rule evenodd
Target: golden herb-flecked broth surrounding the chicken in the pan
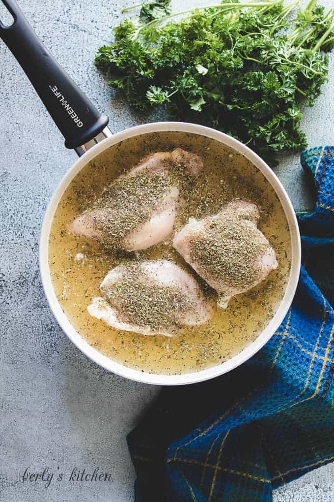
M 204 161 L 204 169 L 196 178 L 180 181 L 182 199 L 174 233 L 191 216 L 202 218 L 217 213 L 235 198 L 250 200 L 260 209 L 258 228 L 274 248 L 278 267 L 258 286 L 232 298 L 226 310 L 216 306 L 215 292 L 199 279 L 213 306 L 212 319 L 206 325 L 185 328 L 170 338 L 118 331 L 87 311 L 91 299 L 100 295 L 99 285 L 108 271 L 129 258 L 165 258 L 194 272 L 173 248 L 172 236 L 143 252 L 116 255 L 70 235 L 67 226 L 91 207 L 106 185 L 145 155 L 177 147 L 197 153 Z M 137 136 L 112 146 L 79 172 L 54 216 L 49 263 L 63 311 L 92 346 L 135 369 L 178 374 L 226 361 L 265 328 L 284 295 L 290 270 L 290 235 L 274 190 L 247 159 L 203 136 L 163 132 Z

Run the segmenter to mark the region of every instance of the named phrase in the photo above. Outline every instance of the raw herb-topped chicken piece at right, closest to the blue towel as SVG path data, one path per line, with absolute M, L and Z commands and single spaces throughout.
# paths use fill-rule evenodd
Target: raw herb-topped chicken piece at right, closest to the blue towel
M 216 215 L 190 218 L 174 236 L 173 246 L 217 291 L 221 308 L 278 265 L 274 250 L 256 226 L 259 216 L 256 204 L 235 200 Z

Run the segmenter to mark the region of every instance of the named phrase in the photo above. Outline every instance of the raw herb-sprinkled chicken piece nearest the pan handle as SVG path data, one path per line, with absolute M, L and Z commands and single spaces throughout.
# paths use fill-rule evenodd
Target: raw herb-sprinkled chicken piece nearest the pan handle
M 203 167 L 197 155 L 180 148 L 149 155 L 115 180 L 69 232 L 128 251 L 161 242 L 173 230 L 179 189 L 169 175 L 178 165 L 192 176 Z

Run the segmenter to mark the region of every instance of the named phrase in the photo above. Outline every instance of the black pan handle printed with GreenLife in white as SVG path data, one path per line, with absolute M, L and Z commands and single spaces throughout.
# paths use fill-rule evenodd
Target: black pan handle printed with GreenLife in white
M 14 18 L 6 27 L 0 21 L 0 38 L 14 54 L 57 127 L 66 148 L 76 148 L 95 138 L 107 126 L 102 115 L 61 68 L 34 33 L 16 0 L 0 0 Z

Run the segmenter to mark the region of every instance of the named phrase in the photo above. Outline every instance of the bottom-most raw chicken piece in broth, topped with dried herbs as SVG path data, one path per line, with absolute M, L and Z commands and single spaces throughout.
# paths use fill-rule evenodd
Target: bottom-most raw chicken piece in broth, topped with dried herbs
M 209 320 L 210 307 L 196 280 L 167 260 L 118 265 L 100 285 L 88 312 L 109 326 L 143 335 L 172 334 Z

